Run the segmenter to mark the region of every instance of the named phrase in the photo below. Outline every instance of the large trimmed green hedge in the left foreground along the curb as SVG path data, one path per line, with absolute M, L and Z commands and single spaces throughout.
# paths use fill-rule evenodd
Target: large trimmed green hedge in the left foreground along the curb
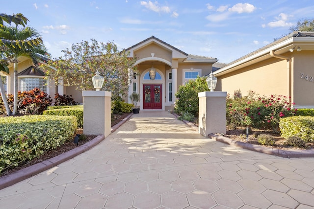
M 77 126 L 75 116 L 0 117 L 0 172 L 73 139 Z

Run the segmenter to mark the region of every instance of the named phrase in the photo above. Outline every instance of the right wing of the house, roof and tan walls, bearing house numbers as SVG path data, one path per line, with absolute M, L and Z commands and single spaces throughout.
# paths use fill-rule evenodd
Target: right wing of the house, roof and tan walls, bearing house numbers
M 215 91 L 289 96 L 295 108 L 314 108 L 314 32 L 293 32 L 216 70 Z

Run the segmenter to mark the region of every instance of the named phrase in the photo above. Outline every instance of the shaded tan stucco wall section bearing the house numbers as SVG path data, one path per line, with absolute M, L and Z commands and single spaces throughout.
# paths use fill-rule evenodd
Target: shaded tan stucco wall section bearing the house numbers
M 301 79 L 301 73 L 304 73 Z M 294 53 L 292 62 L 292 99 L 295 105 L 314 106 L 314 52 Z M 308 75 L 308 80 L 305 76 Z M 312 80 L 312 81 L 311 81 Z

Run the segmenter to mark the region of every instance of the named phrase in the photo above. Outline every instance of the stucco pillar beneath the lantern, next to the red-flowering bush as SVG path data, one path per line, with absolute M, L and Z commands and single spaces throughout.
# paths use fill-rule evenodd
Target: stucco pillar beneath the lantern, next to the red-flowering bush
M 227 92 L 200 92 L 198 97 L 198 132 L 205 137 L 209 134 L 226 134 Z

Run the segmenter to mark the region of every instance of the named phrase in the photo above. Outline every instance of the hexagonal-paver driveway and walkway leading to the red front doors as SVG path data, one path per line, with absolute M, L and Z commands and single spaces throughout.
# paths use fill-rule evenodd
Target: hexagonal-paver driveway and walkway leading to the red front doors
M 314 158 L 205 138 L 141 111 L 94 148 L 0 190 L 2 209 L 310 209 Z

